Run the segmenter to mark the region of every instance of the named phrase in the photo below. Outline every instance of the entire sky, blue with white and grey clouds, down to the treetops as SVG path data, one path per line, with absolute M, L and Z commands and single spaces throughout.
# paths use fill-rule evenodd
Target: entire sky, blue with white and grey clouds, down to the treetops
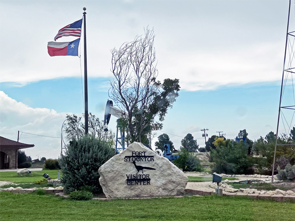
M 176 148 L 187 133 L 204 146 L 204 128 L 209 137 L 223 131 L 226 138 L 235 138 L 243 129 L 250 139 L 265 137 L 276 130 L 288 3 L 0 0 L 0 134 L 14 140 L 18 130 L 60 137 L 65 115 L 82 115 L 83 47 L 80 61 L 50 57 L 46 46 L 87 7 L 89 112 L 103 119 L 113 78 L 110 50 L 149 26 L 156 35 L 158 80 L 180 81 L 179 97 L 162 130 Z M 292 92 L 292 85 L 285 94 L 291 97 L 288 90 Z M 109 128 L 116 130 L 114 118 Z M 279 133 L 284 132 L 280 127 Z M 162 133 L 156 132 L 152 145 Z M 32 158 L 59 156 L 59 138 L 23 134 L 20 141 L 35 144 L 28 149 Z

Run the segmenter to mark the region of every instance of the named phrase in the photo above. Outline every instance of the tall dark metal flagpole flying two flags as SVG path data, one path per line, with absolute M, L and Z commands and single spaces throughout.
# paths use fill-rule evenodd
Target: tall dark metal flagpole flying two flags
M 87 86 L 87 52 L 86 52 L 86 7 L 83 8 L 84 20 L 84 87 L 85 87 L 85 134 L 88 134 L 88 86 Z

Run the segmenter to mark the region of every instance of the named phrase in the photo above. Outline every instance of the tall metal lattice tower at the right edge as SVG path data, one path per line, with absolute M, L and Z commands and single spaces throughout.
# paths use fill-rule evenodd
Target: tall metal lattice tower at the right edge
M 294 17 L 294 11 L 292 12 Z M 285 44 L 285 56 L 283 64 L 283 76 L 281 84 L 281 94 L 280 94 L 280 103 L 279 103 L 279 114 L 276 130 L 276 140 L 274 147 L 273 155 L 273 166 L 272 166 L 272 176 L 271 182 L 273 182 L 273 173 L 274 173 L 274 163 L 275 163 L 275 154 L 276 148 L 279 145 L 295 145 L 294 143 L 290 144 L 278 144 L 278 133 L 279 133 L 279 124 L 282 126 L 280 130 L 284 130 L 283 134 L 288 136 L 294 126 L 294 116 L 295 116 L 295 88 L 293 76 L 295 74 L 295 28 L 294 21 L 293 25 L 290 25 L 291 17 L 291 0 L 289 0 L 289 14 L 288 14 L 288 23 L 287 23 L 287 34 L 286 34 L 286 44 Z M 289 28 L 292 30 L 290 31 Z

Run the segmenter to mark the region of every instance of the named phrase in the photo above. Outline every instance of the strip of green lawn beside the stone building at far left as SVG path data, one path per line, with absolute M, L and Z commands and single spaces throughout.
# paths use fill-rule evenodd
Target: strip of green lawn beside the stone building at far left
M 41 171 L 31 171 L 30 175 L 28 174 L 28 176 L 18 176 L 17 172 L 0 172 L 0 180 L 12 181 L 15 183 L 33 183 L 44 179 L 44 173 L 48 173 L 48 175 L 52 179 L 57 179 L 58 171 L 58 169 L 43 169 Z

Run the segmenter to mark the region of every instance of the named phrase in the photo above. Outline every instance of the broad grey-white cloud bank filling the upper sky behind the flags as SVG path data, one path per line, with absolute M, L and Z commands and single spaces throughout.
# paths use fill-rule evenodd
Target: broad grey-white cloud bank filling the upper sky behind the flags
M 177 78 L 183 90 L 212 90 L 224 85 L 280 80 L 285 4 L 173 1 L 167 6 L 165 1 L 87 2 L 89 77 L 111 78 L 110 50 L 142 35 L 143 28 L 149 25 L 156 34 L 159 79 Z M 75 12 L 82 10 L 84 2 L 69 7 L 66 1 L 61 1 L 59 10 L 47 1 L 2 4 L 7 10 L 0 20 L 0 82 L 24 85 L 81 76 L 79 57 L 50 57 L 46 45 L 59 28 L 77 19 Z M 255 10 L 250 13 L 249 8 Z M 28 10 L 34 10 L 34 15 L 27 15 Z M 13 19 L 17 17 L 22 20 Z M 11 28 L 27 27 L 27 24 L 30 28 Z M 83 73 L 83 46 L 81 54 Z

